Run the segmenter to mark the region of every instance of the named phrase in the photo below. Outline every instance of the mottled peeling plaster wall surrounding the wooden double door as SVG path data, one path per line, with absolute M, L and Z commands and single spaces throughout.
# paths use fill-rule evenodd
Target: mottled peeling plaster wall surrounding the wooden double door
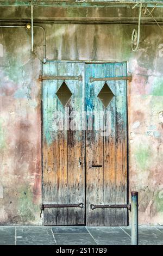
M 40 24 L 41 25 L 41 24 Z M 135 25 L 41 25 L 47 58 L 127 60 L 129 189 L 139 191 L 140 223 L 163 224 L 163 32 L 141 27 L 139 51 L 131 52 Z M 41 84 L 42 34 L 0 28 L 0 223 L 42 224 Z M 3 48 L 3 50 L 2 50 Z M 3 54 L 2 54 L 3 51 Z

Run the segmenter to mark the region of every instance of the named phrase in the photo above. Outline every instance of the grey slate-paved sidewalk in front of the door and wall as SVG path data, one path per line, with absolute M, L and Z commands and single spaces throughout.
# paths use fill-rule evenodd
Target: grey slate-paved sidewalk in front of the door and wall
M 130 227 L 0 226 L 0 245 L 130 245 Z M 163 226 L 140 226 L 140 245 L 163 245 Z

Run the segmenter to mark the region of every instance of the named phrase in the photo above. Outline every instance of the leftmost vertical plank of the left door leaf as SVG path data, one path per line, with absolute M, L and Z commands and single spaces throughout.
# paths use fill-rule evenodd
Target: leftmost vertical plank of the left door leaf
M 46 63 L 43 74 L 57 73 L 57 64 Z M 57 145 L 52 143 L 56 134 L 53 133 L 53 114 L 57 109 L 55 92 L 57 81 L 43 81 L 43 203 L 57 204 Z M 57 224 L 56 209 L 45 209 L 44 224 Z

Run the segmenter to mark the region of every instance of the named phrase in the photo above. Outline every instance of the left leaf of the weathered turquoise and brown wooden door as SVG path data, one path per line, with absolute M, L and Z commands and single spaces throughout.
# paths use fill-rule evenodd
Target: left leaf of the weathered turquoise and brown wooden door
M 82 63 L 47 62 L 46 76 L 82 75 Z M 78 204 L 84 208 L 45 208 L 45 225 L 85 223 L 85 137 L 83 131 L 57 130 L 54 119 L 65 125 L 64 119 L 72 110 L 82 112 L 83 83 L 65 80 L 73 95 L 65 108 L 56 95 L 63 80 L 43 81 L 43 204 Z M 68 119 L 68 125 L 70 124 Z M 76 117 L 73 118 L 76 120 Z M 79 127 L 80 128 L 80 127 Z M 79 166 L 79 158 L 82 164 Z

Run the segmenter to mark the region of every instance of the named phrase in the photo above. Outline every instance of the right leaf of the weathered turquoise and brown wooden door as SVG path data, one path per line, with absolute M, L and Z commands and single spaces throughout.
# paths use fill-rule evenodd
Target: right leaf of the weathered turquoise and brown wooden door
M 110 113 L 111 132 L 86 131 L 86 223 L 87 225 L 127 225 L 127 209 L 94 209 L 90 205 L 127 203 L 127 100 L 126 81 L 109 81 L 115 95 L 108 107 L 104 107 L 97 95 L 105 81 L 90 83 L 90 77 L 126 76 L 125 63 L 86 65 L 86 109 Z M 99 114 L 101 116 L 101 114 Z M 87 114 L 87 120 L 89 114 Z M 93 120 L 98 122 L 97 120 Z M 107 121 L 108 122 L 108 121 Z M 96 126 L 96 124 L 93 124 Z M 95 127 L 93 127 L 95 128 Z M 102 167 L 92 168 L 91 163 Z

